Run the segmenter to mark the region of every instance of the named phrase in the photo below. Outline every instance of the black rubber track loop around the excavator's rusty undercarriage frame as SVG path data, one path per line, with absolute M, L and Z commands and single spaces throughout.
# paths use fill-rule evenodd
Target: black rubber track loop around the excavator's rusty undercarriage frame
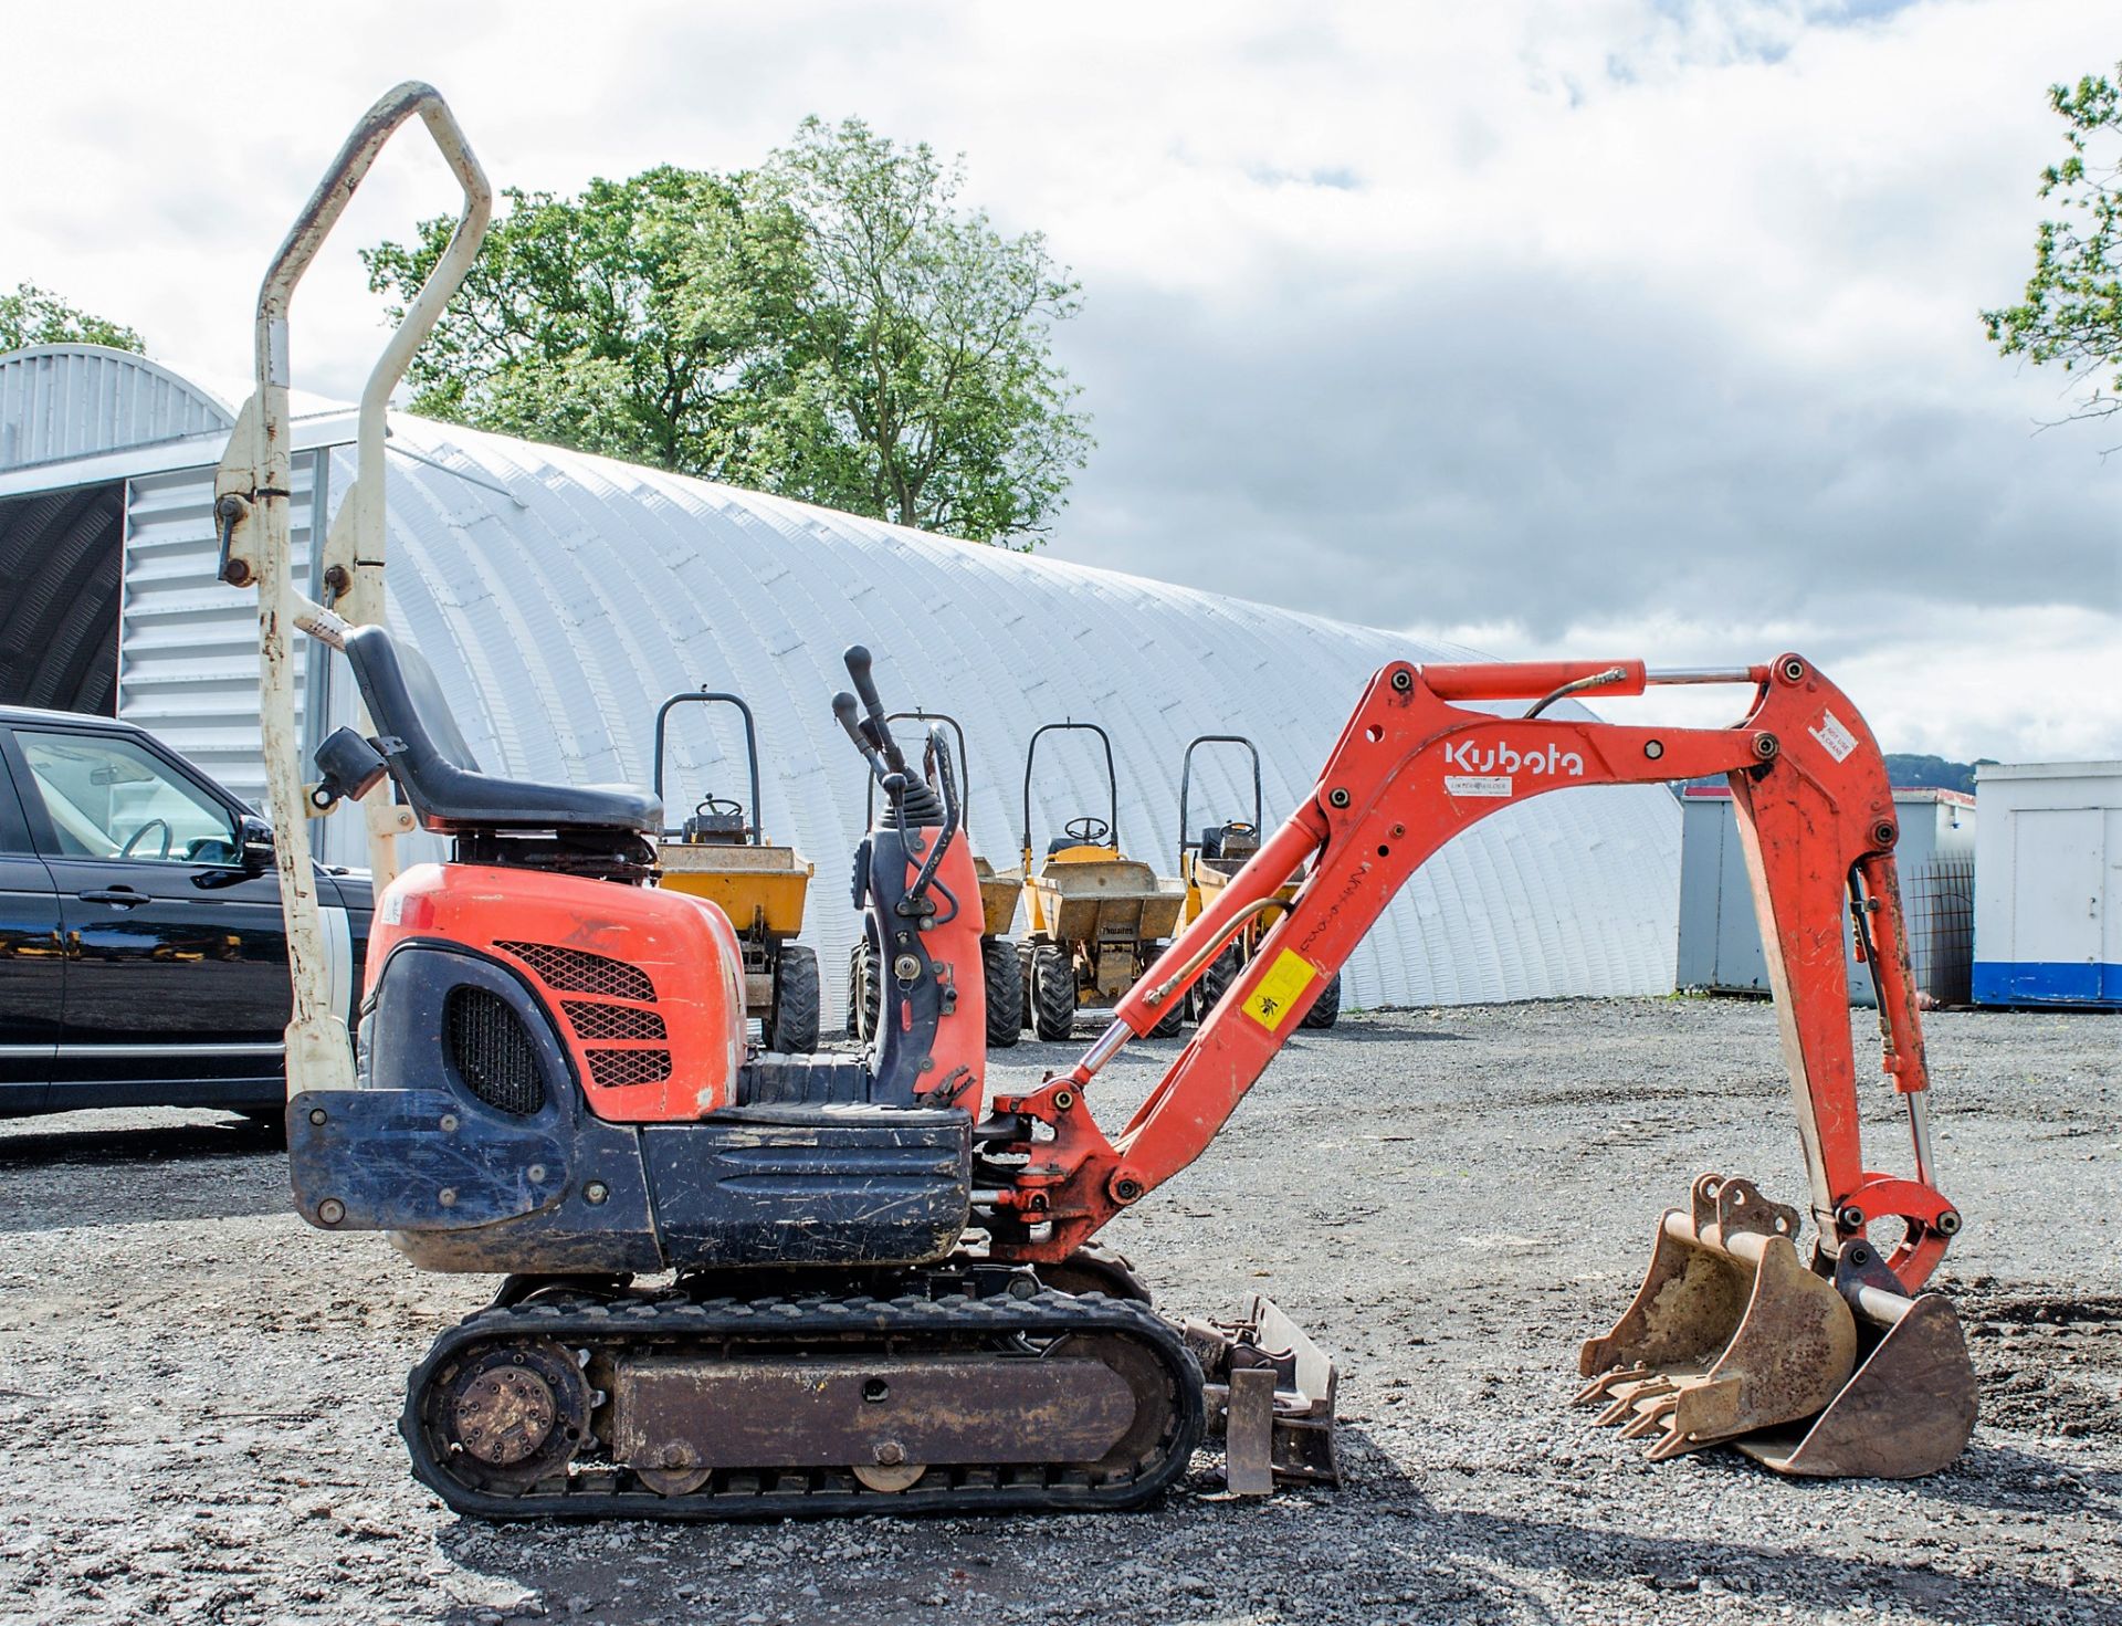
M 847 1339 L 862 1333 L 887 1337 L 963 1337 L 968 1348 L 985 1352 L 997 1337 L 1027 1333 L 1059 1337 L 1061 1333 L 1120 1333 L 1150 1348 L 1171 1371 L 1178 1390 L 1178 1414 L 1165 1433 L 1165 1454 L 1156 1463 L 1118 1484 L 1008 1484 L 1016 1469 L 997 1469 L 995 1484 L 963 1484 L 968 1467 L 932 1469 L 929 1484 L 881 1492 L 836 1473 L 842 1484 L 815 1486 L 817 1471 L 758 1469 L 760 1490 L 715 1490 L 709 1480 L 696 1492 L 662 1497 L 654 1490 L 618 1490 L 594 1480 L 628 1477 L 609 1463 L 588 1465 L 588 1475 L 575 1475 L 560 1492 L 535 1488 L 522 1494 L 477 1490 L 450 1477 L 437 1460 L 422 1424 L 422 1397 L 450 1356 L 473 1344 L 507 1337 L 556 1339 L 569 1348 L 592 1346 L 622 1354 L 628 1344 L 668 1339 L 698 1346 L 743 1339 L 747 1344 L 806 1346 L 819 1337 Z M 685 1301 L 618 1301 L 611 1305 L 516 1303 L 494 1305 L 467 1316 L 446 1331 L 427 1359 L 414 1367 L 405 1384 L 405 1414 L 399 1433 L 412 1452 L 412 1471 L 420 1484 L 439 1494 L 452 1511 L 488 1520 L 533 1518 L 654 1518 L 654 1520 L 768 1520 L 768 1518 L 832 1518 L 832 1516 L 910 1516 L 910 1513 L 1029 1513 L 1029 1511 L 1097 1511 L 1127 1509 L 1161 1497 L 1178 1480 L 1201 1441 L 1203 1399 L 1201 1367 L 1178 1329 L 1142 1303 L 1108 1299 L 1101 1293 L 1067 1295 L 1038 1293 L 1029 1299 L 953 1295 L 944 1299 L 709 1299 Z M 766 1490 L 770 1480 L 808 1480 L 813 1488 Z

